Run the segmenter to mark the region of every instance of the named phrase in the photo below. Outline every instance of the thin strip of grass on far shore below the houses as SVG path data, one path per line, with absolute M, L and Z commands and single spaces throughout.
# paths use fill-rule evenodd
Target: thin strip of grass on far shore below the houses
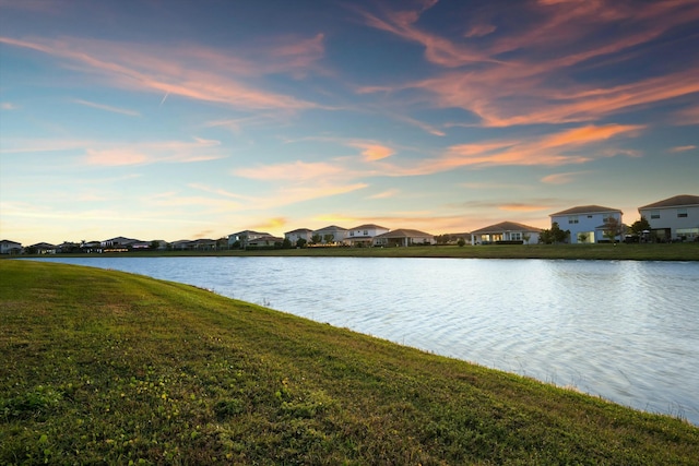
M 632 261 L 699 261 L 699 242 L 668 244 L 489 244 L 410 248 L 305 248 L 277 250 L 140 251 L 131 256 L 275 255 L 354 258 L 572 259 Z M 71 254 L 72 255 L 72 254 Z M 78 254 L 76 254 L 78 255 Z M 94 255 L 94 254 L 90 254 Z

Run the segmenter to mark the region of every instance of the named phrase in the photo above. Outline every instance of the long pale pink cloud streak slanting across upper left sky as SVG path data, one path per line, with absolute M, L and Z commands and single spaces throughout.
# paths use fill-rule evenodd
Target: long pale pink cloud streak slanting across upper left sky
M 42 51 L 78 71 L 100 76 L 112 85 L 196 100 L 220 103 L 247 110 L 301 110 L 318 105 L 247 84 L 241 74 L 256 69 L 247 60 L 215 61 L 223 53 L 202 48 L 134 47 L 133 44 L 64 38 L 23 40 L 0 37 L 7 46 Z M 281 53 L 284 56 L 284 53 Z M 228 65 L 230 61 L 233 65 Z M 241 65 L 242 64 L 242 65 Z M 244 70 L 244 71 L 241 71 Z M 239 80 L 236 80 L 238 76 Z

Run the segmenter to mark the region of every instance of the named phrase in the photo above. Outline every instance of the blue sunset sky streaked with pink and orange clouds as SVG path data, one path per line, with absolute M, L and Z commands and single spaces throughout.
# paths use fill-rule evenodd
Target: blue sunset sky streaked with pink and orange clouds
M 699 194 L 696 0 L 0 0 L 0 237 L 433 235 Z

